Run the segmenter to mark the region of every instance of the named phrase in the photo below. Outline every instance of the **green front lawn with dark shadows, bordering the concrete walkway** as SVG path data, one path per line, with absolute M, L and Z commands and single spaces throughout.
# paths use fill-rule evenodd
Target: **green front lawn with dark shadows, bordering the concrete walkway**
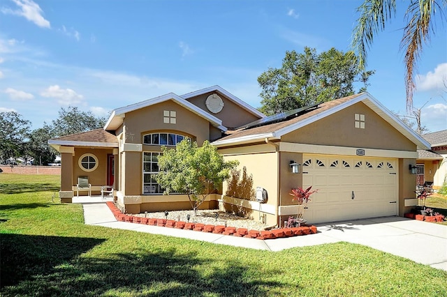
M 1 296 L 447 296 L 446 271 L 362 245 L 268 252 L 87 226 L 58 188 L 0 174 Z

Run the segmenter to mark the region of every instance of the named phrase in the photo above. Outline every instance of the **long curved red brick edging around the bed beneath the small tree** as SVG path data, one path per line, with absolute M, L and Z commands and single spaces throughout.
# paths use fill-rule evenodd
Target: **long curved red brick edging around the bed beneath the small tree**
M 115 206 L 112 201 L 105 202 L 107 206 L 112 211 L 115 218 L 120 222 L 133 222 L 137 224 L 148 224 L 151 226 L 175 228 L 175 229 L 186 229 L 193 231 L 201 231 L 214 234 L 223 234 L 237 237 L 245 238 L 256 238 L 256 239 L 274 239 L 283 238 L 307 234 L 315 234 L 315 226 L 303 226 L 294 228 L 281 228 L 272 230 L 249 230 L 247 228 L 236 228 L 236 227 L 225 227 L 223 225 L 213 225 L 213 224 L 200 224 L 193 222 L 182 222 L 176 220 L 166 220 L 166 219 L 155 219 L 155 218 L 141 218 L 135 215 L 126 215 Z

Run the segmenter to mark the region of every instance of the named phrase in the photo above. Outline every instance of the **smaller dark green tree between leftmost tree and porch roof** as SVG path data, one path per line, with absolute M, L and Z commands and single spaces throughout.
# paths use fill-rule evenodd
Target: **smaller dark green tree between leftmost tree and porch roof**
M 54 161 L 56 151 L 48 145 L 48 140 L 53 137 L 52 129 L 46 123 L 43 128 L 38 128 L 29 135 L 29 146 L 34 165 L 47 165 Z

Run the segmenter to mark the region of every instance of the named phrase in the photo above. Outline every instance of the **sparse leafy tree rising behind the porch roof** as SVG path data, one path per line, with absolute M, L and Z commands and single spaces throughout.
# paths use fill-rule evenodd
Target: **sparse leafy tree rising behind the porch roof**
M 52 121 L 51 128 L 53 135 L 60 137 L 102 128 L 105 121 L 107 119 L 97 118 L 92 112 L 82 112 L 78 107 L 61 107 L 59 118 Z

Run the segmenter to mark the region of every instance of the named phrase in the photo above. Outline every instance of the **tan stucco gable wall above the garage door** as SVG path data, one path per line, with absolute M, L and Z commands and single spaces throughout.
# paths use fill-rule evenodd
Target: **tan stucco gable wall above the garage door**
M 355 128 L 354 114 L 365 114 L 365 129 Z M 281 137 L 282 142 L 416 151 L 404 137 L 362 102 Z

